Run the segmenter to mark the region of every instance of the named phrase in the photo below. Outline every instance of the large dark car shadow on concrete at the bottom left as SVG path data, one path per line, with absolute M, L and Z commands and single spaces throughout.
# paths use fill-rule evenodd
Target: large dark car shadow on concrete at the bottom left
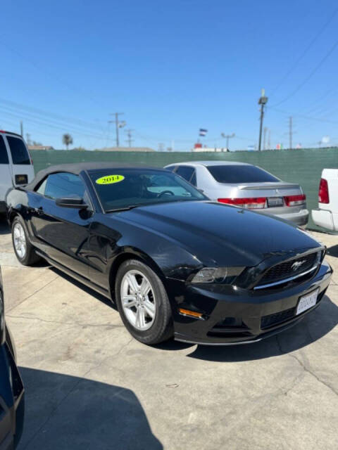
M 20 449 L 161 450 L 132 390 L 20 367 L 25 423 Z

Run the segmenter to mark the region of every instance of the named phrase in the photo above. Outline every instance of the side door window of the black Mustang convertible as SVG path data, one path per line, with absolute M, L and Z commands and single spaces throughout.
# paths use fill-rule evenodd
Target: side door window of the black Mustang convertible
M 42 193 L 43 191 L 46 197 L 54 200 L 61 197 L 84 198 L 85 186 L 78 175 L 66 172 L 51 174 L 47 177 L 45 185 L 43 185 L 44 183 L 42 183 L 37 192 Z

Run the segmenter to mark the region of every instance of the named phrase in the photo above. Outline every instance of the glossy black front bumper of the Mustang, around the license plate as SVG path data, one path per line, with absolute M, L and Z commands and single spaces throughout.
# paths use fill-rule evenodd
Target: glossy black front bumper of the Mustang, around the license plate
M 323 299 L 332 269 L 323 262 L 308 281 L 287 288 L 243 290 L 232 286 L 189 285 L 184 296 L 176 297 L 175 339 L 194 344 L 232 345 L 257 342 L 295 325 Z M 296 316 L 299 298 L 318 290 L 314 307 Z M 182 316 L 178 308 L 199 311 L 203 319 Z

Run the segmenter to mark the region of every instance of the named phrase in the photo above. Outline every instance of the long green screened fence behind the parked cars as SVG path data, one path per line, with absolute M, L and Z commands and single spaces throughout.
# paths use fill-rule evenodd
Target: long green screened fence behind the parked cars
M 32 150 L 35 171 L 49 165 L 88 162 L 142 162 L 163 167 L 172 162 L 220 160 L 249 162 L 263 167 L 284 181 L 299 183 L 307 195 L 308 210 L 318 206 L 318 184 L 322 169 L 338 168 L 338 148 L 302 150 L 265 150 L 262 152 L 192 153 L 192 152 L 100 152 L 80 150 Z M 316 228 L 310 219 L 309 228 Z

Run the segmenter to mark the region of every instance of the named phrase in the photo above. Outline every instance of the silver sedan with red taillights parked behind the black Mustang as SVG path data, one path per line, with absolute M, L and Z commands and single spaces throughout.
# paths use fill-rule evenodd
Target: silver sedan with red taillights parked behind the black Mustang
M 165 166 L 220 203 L 273 214 L 299 226 L 308 223 L 306 195 L 299 184 L 286 183 L 245 162 L 194 161 Z

